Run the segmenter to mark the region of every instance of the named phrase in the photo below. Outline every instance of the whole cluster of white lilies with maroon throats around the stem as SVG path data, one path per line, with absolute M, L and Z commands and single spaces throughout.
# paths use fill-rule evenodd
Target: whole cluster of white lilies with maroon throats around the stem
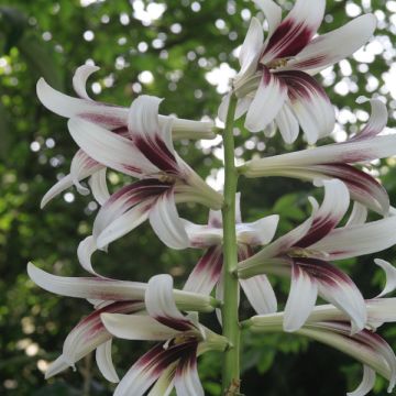
M 266 37 L 262 23 L 252 18 L 240 51 L 241 70 L 222 100 L 219 117 L 228 118 L 230 101 L 237 98 L 235 118 L 245 114 L 244 125 L 252 133 L 274 130 L 268 125 L 275 124 L 284 141 L 293 143 L 301 129 L 314 145 L 332 132 L 336 121 L 329 98 L 312 76 L 360 48 L 374 32 L 375 18 L 362 15 L 333 32 L 316 35 L 326 0 L 296 0 L 284 20 L 274 1 L 255 3 L 266 18 Z M 92 194 L 100 205 L 92 234 L 80 242 L 77 251 L 90 276 L 61 277 L 31 263 L 28 267 L 31 278 L 44 289 L 84 298 L 94 306 L 66 338 L 63 353 L 50 365 L 46 377 L 74 367 L 96 351 L 103 376 L 119 383 L 117 396 L 162 396 L 173 388 L 178 396 L 204 395 L 197 356 L 230 348 L 227 337 L 198 319 L 198 312 L 217 309 L 221 322 L 227 304 L 221 215 L 224 199 L 176 153 L 173 141 L 213 139 L 218 130 L 211 122 L 160 116 L 161 100 L 155 97 L 140 96 L 129 109 L 97 102 L 86 91 L 86 81 L 96 70 L 88 65 L 77 69 L 73 84 L 78 98 L 54 90 L 43 79 L 37 84 L 40 100 L 69 119 L 68 130 L 79 146 L 70 173 L 51 188 L 42 206 L 73 185 L 81 194 Z M 245 177 L 283 176 L 311 180 L 323 188 L 320 204 L 309 199 L 310 217 L 276 239 L 278 216 L 243 222 L 238 194 L 238 266 L 231 275 L 238 277 L 257 314 L 240 323 L 246 331 L 263 337 L 274 331 L 296 332 L 363 363 L 363 381 L 350 396 L 367 394 L 375 373 L 389 381 L 389 392 L 396 383 L 396 356 L 375 333 L 383 323 L 396 321 L 396 300 L 385 297 L 396 288 L 396 270 L 375 260 L 387 280 L 378 296 L 366 299 L 334 263 L 396 243 L 396 217 L 391 213 L 386 190 L 362 170 L 364 163 L 396 154 L 396 135 L 381 135 L 387 122 L 385 105 L 377 99 L 370 103 L 372 113 L 366 125 L 345 142 L 253 158 L 238 168 Z M 131 183 L 112 195 L 107 188 L 108 167 L 131 176 Z M 82 182 L 87 178 L 88 185 Z M 208 223 L 182 219 L 177 205 L 183 202 L 209 208 Z M 366 222 L 370 210 L 381 219 Z M 107 278 L 94 270 L 91 257 L 97 250 L 106 251 L 111 242 L 146 220 L 170 249 L 202 251 L 183 290 L 173 288 L 168 275 L 154 276 L 145 284 Z M 290 279 L 284 311 L 277 310 L 267 275 Z M 318 296 L 329 304 L 316 306 Z M 111 359 L 114 337 L 158 343 L 120 381 Z M 238 393 L 230 389 L 228 394 Z

